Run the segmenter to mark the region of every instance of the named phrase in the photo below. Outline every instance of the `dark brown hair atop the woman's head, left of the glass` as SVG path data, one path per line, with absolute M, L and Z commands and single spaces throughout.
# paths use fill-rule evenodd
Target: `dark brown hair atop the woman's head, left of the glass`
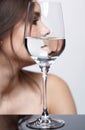
M 32 0 L 0 0 L 0 40 L 12 32 Z

